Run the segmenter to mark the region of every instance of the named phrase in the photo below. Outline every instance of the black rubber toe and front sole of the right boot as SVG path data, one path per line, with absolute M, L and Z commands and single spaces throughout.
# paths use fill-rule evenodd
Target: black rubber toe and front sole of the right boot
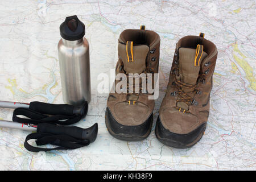
M 165 129 L 158 117 L 155 126 L 156 138 L 163 144 L 175 148 L 190 148 L 203 137 L 207 123 L 203 123 L 197 129 L 188 134 L 176 134 Z

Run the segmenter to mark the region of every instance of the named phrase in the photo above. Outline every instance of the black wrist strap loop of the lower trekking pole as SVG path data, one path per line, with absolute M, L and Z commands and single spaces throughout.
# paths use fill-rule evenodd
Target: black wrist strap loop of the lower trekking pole
M 36 144 L 38 146 L 44 144 L 53 144 L 59 147 L 55 148 L 42 148 L 42 147 L 34 147 L 28 143 L 28 140 L 36 139 Z M 47 133 L 31 133 L 27 135 L 24 147 L 31 152 L 39 152 L 39 151 L 51 151 L 51 150 L 68 150 L 68 149 L 76 149 L 84 146 L 88 146 L 90 144 L 89 140 L 81 140 L 70 137 L 69 135 L 52 135 Z

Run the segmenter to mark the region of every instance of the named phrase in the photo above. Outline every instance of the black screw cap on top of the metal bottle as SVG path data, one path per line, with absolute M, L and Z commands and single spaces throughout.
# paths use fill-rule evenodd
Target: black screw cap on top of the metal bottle
M 79 40 L 85 34 L 85 26 L 76 15 L 66 17 L 60 25 L 60 36 L 66 40 Z

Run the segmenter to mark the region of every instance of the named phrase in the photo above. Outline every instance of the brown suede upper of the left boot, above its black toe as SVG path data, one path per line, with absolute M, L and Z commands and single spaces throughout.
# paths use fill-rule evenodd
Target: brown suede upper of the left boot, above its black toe
M 127 61 L 127 41 L 133 41 L 133 62 Z M 129 73 L 158 73 L 159 47 L 160 37 L 154 31 L 132 29 L 123 31 L 118 41 L 119 59 L 117 61 L 115 74 L 124 73 L 128 80 Z M 154 61 L 152 61 L 153 57 L 155 57 Z M 113 86 L 116 86 L 118 82 L 118 80 L 115 80 Z M 154 82 L 152 82 L 152 84 L 154 88 Z M 133 87 L 133 85 L 129 84 L 129 89 L 131 89 L 131 87 Z M 141 125 L 150 117 L 154 110 L 155 101 L 148 100 L 149 95 L 149 93 L 110 93 L 107 107 L 115 121 L 119 124 L 124 126 Z M 130 103 L 129 100 L 131 101 Z

